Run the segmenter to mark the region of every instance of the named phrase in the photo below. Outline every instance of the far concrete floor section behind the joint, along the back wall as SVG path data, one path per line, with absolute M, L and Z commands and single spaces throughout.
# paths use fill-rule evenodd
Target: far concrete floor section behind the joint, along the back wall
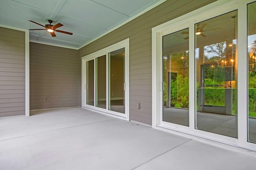
M 0 140 L 115 119 L 80 107 L 36 110 L 30 115 L 0 119 Z

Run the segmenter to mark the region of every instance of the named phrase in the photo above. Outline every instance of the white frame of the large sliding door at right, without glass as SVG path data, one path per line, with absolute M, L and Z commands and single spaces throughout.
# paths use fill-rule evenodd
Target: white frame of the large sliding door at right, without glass
M 152 127 L 195 138 L 256 150 L 247 142 L 247 4 L 255 0 L 218 0 L 152 28 Z M 195 39 L 194 24 L 238 10 L 238 139 L 195 129 Z M 189 27 L 189 127 L 162 121 L 162 36 Z

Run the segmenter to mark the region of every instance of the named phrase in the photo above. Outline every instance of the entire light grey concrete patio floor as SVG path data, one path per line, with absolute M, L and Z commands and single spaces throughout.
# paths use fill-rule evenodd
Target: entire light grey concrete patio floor
M 255 170 L 256 158 L 79 107 L 0 118 L 1 170 Z

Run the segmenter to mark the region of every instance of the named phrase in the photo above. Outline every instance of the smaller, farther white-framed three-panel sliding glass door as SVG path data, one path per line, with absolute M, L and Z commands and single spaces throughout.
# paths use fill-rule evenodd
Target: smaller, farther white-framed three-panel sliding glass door
M 83 107 L 129 118 L 128 40 L 82 58 Z

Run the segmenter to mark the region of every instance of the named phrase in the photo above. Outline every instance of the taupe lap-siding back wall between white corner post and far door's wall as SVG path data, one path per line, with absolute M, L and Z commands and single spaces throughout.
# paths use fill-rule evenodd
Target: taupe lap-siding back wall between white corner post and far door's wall
M 78 50 L 30 43 L 30 109 L 79 105 L 77 58 Z

